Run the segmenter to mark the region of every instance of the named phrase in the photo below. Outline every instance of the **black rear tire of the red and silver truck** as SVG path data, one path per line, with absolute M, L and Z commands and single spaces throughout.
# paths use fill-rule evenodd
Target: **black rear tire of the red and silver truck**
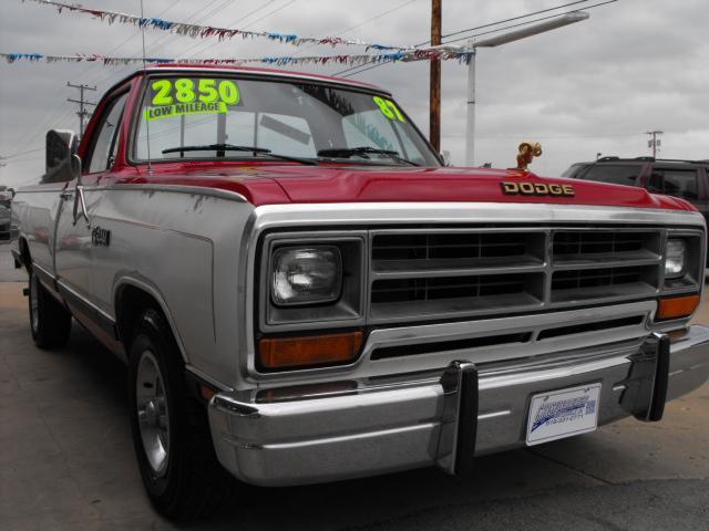
M 40 348 L 60 348 L 69 341 L 71 313 L 54 299 L 30 268 L 30 332 Z

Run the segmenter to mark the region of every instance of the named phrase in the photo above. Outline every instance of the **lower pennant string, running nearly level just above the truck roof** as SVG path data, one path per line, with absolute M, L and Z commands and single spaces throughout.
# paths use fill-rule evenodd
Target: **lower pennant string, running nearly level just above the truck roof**
M 238 65 L 245 63 L 261 63 L 269 65 L 326 65 L 326 64 L 347 64 L 358 66 L 371 63 L 384 62 L 412 62 L 412 61 L 430 61 L 430 60 L 458 60 L 460 63 L 469 64 L 475 52 L 460 46 L 435 46 L 410 50 L 407 52 L 390 52 L 379 54 L 360 54 L 360 55 L 314 55 L 314 56 L 267 56 L 253 59 L 167 59 L 167 58 L 112 58 L 99 54 L 74 54 L 74 55 L 44 55 L 41 53 L 0 53 L 8 63 L 18 61 L 47 63 L 81 63 L 81 62 L 100 62 L 106 66 L 127 65 L 127 64 L 151 64 L 151 63 L 176 63 L 176 64 L 214 64 L 214 65 Z

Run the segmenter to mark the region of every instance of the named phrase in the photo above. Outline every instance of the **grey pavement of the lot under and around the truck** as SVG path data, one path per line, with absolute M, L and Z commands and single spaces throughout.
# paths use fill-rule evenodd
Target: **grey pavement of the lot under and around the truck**
M 0 530 L 167 530 L 133 457 L 125 367 L 75 325 L 30 339 L 24 274 L 0 246 Z M 703 301 L 698 321 L 709 323 Z M 665 419 L 434 469 L 325 486 L 245 488 L 198 530 L 709 530 L 709 385 Z

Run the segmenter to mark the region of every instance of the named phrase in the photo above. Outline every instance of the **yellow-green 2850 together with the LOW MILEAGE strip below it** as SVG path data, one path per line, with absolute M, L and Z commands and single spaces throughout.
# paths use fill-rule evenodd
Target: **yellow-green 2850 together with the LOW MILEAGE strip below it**
M 179 77 L 153 81 L 150 102 L 145 118 L 152 121 L 186 114 L 226 113 L 228 106 L 242 103 L 242 94 L 232 80 Z

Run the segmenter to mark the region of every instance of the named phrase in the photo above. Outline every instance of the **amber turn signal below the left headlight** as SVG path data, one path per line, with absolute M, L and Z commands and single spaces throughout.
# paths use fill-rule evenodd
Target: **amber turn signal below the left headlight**
M 361 332 L 307 337 L 273 337 L 258 342 L 264 368 L 306 367 L 353 361 L 362 345 Z

